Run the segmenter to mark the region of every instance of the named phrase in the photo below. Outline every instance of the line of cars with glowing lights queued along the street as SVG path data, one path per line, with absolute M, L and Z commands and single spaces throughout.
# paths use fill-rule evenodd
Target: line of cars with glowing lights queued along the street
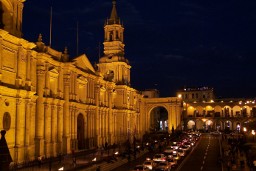
M 162 152 L 153 158 L 147 158 L 143 164 L 137 165 L 133 171 L 170 171 L 184 158 L 200 137 L 198 132 L 183 133 L 179 138 L 168 143 Z

